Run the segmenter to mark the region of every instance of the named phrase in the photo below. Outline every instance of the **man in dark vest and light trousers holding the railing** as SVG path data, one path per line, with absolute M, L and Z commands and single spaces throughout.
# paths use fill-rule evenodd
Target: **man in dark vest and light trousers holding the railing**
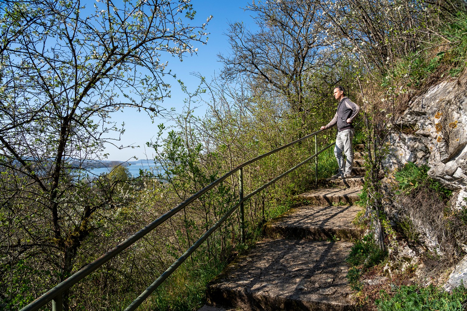
M 328 129 L 337 124 L 334 155 L 339 166 L 339 173 L 333 175 L 332 178 L 344 179 L 352 176 L 352 168 L 354 167 L 354 146 L 352 139 L 355 134 L 352 121 L 354 121 L 354 118 L 360 111 L 360 107 L 344 96 L 344 88 L 340 85 L 334 88 L 334 98 L 339 101 L 336 114 L 331 122 L 325 126 L 321 126 L 321 130 Z M 344 152 L 347 161 L 344 161 L 344 154 L 342 152 Z

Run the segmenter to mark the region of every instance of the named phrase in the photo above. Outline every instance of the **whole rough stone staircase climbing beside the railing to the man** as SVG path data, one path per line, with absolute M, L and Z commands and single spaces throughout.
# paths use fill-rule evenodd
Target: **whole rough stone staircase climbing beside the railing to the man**
M 364 174 L 361 165 L 355 161 L 354 173 Z M 207 285 L 198 311 L 356 309 L 345 259 L 361 234 L 352 220 L 363 177 L 323 184 L 297 197 L 302 206 L 265 224 L 266 238 Z

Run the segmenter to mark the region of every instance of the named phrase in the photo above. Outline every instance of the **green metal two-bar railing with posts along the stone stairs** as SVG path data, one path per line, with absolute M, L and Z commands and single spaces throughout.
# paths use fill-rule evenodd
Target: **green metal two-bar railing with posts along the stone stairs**
M 35 311 L 44 306 L 45 304 L 49 303 L 52 301 L 52 310 L 53 311 L 62 311 L 63 310 L 63 299 L 62 299 L 62 293 L 68 289 L 70 289 L 73 285 L 78 283 L 80 280 L 91 274 L 94 270 L 98 269 L 101 267 L 104 263 L 108 262 L 120 252 L 123 250 L 127 249 L 129 246 L 140 240 L 143 236 L 147 235 L 149 232 L 154 230 L 157 226 L 162 224 L 164 221 L 168 220 L 170 217 L 175 215 L 178 211 L 183 209 L 184 207 L 188 206 L 191 202 L 194 200 L 198 199 L 201 195 L 205 194 L 207 191 L 212 189 L 213 187 L 216 187 L 219 185 L 223 180 L 228 178 L 229 176 L 233 175 L 237 171 L 239 171 L 239 201 L 237 204 L 235 204 L 226 214 L 224 214 L 214 225 L 205 232 L 204 235 L 202 235 L 198 241 L 196 241 L 180 258 L 178 258 L 165 272 L 159 276 L 154 283 L 152 283 L 146 290 L 142 292 L 142 294 L 137 297 L 128 307 L 125 309 L 125 311 L 131 311 L 135 310 L 144 300 L 146 300 L 149 295 L 156 290 L 156 288 L 163 283 L 163 281 L 169 277 L 177 268 L 180 266 L 238 207 L 240 207 L 240 227 L 241 227 L 241 242 L 245 242 L 245 215 L 244 215 L 244 208 L 243 208 L 243 203 L 250 199 L 253 195 L 257 194 L 258 192 L 262 191 L 263 189 L 269 187 L 270 185 L 274 184 L 277 180 L 280 180 L 284 176 L 288 175 L 289 173 L 295 171 L 297 168 L 300 166 L 303 166 L 304 164 L 308 163 L 312 159 L 315 159 L 315 182 L 318 182 L 318 155 L 321 152 L 324 152 L 326 149 L 330 148 L 331 146 L 334 145 L 334 143 L 326 145 L 323 147 L 321 150 L 318 151 L 318 134 L 322 131 L 325 130 L 320 130 L 316 131 L 314 133 L 311 133 L 307 136 L 304 136 L 303 138 L 297 139 L 287 145 L 283 145 L 273 151 L 264 153 L 254 159 L 250 159 L 247 162 L 241 164 L 240 166 L 235 167 L 233 170 L 229 171 L 222 177 L 218 178 L 217 180 L 213 181 L 210 185 L 204 187 L 200 191 L 198 191 L 196 194 L 193 194 L 190 198 L 184 200 L 184 202 L 180 203 L 176 207 L 172 208 L 169 212 L 163 214 L 161 217 L 156 219 L 155 221 L 151 222 L 148 226 L 142 228 L 140 231 L 136 232 L 134 235 L 130 236 L 127 240 L 121 242 L 117 246 L 115 246 L 113 249 L 109 250 L 106 252 L 104 255 L 100 256 L 96 260 L 94 260 L 92 263 L 87 264 L 84 268 L 79 270 L 78 272 L 74 273 L 70 277 L 68 277 L 66 280 L 64 280 L 62 283 L 59 283 L 46 293 L 42 294 L 40 297 L 35 299 L 32 303 L 28 304 L 24 308 L 21 309 L 21 311 Z M 260 159 L 263 159 L 271 154 L 274 154 L 276 152 L 279 152 L 285 148 L 290 147 L 291 145 L 295 145 L 307 138 L 315 137 L 315 154 L 313 154 L 311 157 L 305 159 L 304 161 L 300 162 L 296 166 L 290 168 L 288 171 L 280 174 L 277 176 L 275 179 L 269 181 L 268 183 L 264 184 L 262 187 L 257 188 L 255 191 L 252 193 L 244 196 L 243 195 L 243 167 L 254 163 L 255 161 L 258 161 Z

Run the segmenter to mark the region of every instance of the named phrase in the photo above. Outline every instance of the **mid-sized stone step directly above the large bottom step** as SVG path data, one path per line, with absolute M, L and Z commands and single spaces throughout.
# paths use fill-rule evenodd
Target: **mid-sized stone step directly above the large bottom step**
M 360 230 L 350 225 L 361 207 L 302 206 L 268 221 L 264 232 L 274 239 L 354 241 Z

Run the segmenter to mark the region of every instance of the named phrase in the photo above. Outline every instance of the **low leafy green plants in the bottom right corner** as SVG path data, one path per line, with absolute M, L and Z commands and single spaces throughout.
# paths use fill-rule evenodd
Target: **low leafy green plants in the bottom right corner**
M 467 304 L 467 288 L 459 286 L 449 293 L 432 284 L 396 287 L 391 296 L 383 291 L 381 299 L 375 301 L 379 311 L 461 311 Z

